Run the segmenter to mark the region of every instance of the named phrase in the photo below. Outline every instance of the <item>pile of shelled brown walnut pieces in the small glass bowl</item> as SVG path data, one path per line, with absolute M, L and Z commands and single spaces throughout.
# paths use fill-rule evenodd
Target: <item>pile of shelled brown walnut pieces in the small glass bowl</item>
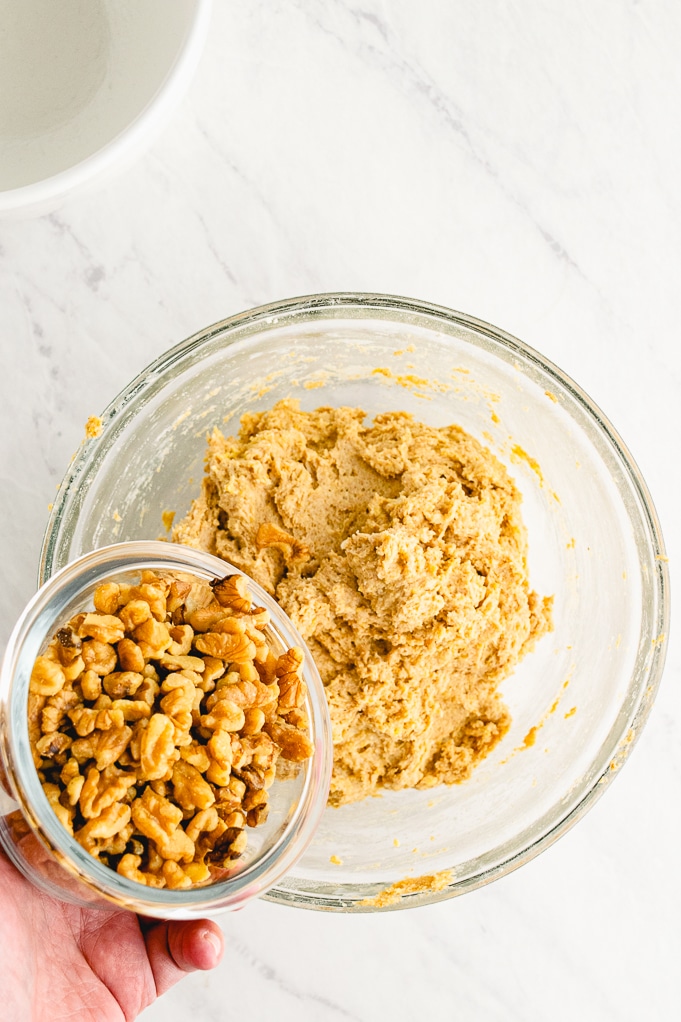
M 152 887 L 211 882 L 312 754 L 303 651 L 276 656 L 242 575 L 142 571 L 60 628 L 31 676 L 43 790 L 87 851 Z M 281 763 L 280 763 L 281 768 Z

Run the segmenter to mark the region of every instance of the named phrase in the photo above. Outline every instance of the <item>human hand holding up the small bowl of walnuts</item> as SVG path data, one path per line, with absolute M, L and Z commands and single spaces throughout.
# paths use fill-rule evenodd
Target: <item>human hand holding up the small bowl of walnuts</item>
M 133 1022 L 222 956 L 210 920 L 141 921 L 57 901 L 0 851 L 0 1017 L 7 1022 Z

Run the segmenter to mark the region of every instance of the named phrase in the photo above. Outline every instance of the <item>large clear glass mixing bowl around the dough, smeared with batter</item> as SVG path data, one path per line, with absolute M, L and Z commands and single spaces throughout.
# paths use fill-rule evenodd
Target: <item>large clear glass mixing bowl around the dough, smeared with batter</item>
M 523 493 L 531 587 L 554 594 L 555 626 L 503 683 L 511 729 L 470 780 L 327 808 L 267 896 L 370 911 L 471 890 L 563 834 L 633 748 L 668 631 L 654 508 L 600 411 L 514 337 L 421 301 L 314 295 L 209 327 L 132 381 L 63 479 L 41 577 L 157 537 L 164 512 L 179 518 L 198 493 L 207 431 L 291 397 L 307 410 L 408 411 L 486 444 Z

